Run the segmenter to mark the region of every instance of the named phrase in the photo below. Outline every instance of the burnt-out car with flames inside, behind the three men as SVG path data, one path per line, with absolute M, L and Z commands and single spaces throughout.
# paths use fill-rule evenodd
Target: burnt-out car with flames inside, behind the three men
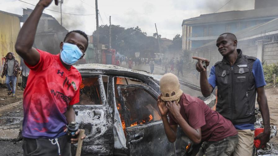
M 165 135 L 156 105 L 161 75 L 114 65 L 75 66 L 82 75 L 76 121 L 85 129 L 82 155 L 184 155 L 191 141 L 178 130 L 175 143 Z M 200 88 L 180 82 L 181 89 L 202 96 Z M 215 96 L 203 99 L 213 106 Z M 73 153 L 76 145 L 73 145 Z

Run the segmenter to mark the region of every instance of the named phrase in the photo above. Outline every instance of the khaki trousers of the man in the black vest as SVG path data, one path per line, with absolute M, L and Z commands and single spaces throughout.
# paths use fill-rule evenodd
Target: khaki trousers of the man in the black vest
M 254 130 L 237 130 L 238 144 L 233 152 L 233 156 L 252 156 L 254 145 Z

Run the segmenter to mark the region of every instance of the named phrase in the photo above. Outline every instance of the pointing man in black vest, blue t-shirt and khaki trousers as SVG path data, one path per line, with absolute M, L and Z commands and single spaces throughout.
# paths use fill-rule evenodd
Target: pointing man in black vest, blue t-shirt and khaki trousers
M 232 33 L 221 34 L 216 41 L 218 51 L 223 56 L 211 67 L 207 78 L 209 60 L 199 57 L 196 70 L 200 72 L 200 87 L 204 97 L 209 96 L 217 86 L 216 111 L 231 120 L 238 131 L 239 142 L 233 156 L 251 156 L 253 139 L 266 145 L 270 136 L 269 110 L 264 86 L 262 63 L 259 59 L 242 54 L 236 49 L 237 39 Z M 205 65 L 203 65 L 205 63 Z M 264 131 L 254 138 L 255 100 L 262 113 Z

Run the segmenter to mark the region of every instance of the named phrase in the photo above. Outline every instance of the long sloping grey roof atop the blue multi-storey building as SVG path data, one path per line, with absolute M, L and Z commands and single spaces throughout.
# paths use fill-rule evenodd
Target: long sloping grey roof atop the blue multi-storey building
M 226 11 L 212 14 L 204 14 L 199 17 L 183 20 L 182 24 L 212 24 L 219 22 L 229 22 L 234 20 L 254 19 L 254 18 L 267 18 L 278 17 L 277 7 L 244 10 L 244 11 Z

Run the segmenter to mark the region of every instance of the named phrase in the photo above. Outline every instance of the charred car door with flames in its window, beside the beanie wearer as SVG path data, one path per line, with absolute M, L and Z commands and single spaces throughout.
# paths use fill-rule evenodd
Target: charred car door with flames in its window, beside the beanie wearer
M 159 93 L 143 85 L 118 85 L 129 155 L 174 155 L 157 107 Z

